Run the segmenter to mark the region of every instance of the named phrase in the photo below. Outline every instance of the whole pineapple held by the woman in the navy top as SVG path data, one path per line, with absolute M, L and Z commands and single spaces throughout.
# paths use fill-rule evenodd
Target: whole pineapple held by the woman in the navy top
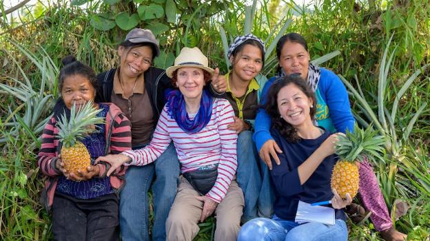
M 336 143 L 336 154 L 340 160 L 333 168 L 331 174 L 331 188 L 336 189 L 339 196 L 346 198 L 346 193 L 354 198 L 358 192 L 359 175 L 357 162 L 364 160 L 365 156 L 370 160 L 382 157 L 378 152 L 382 152 L 385 144 L 383 136 L 375 136 L 371 125 L 365 131 L 354 125 L 354 132 L 347 131 L 345 136 L 339 136 Z

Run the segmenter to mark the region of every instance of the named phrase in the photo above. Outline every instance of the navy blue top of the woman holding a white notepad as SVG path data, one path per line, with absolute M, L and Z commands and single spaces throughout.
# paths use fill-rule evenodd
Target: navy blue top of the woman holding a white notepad
M 290 143 L 277 129 L 272 128 L 271 133 L 280 149 L 283 150 L 282 154 L 278 154 L 280 165 L 276 165 L 272 160 L 273 169 L 270 171 L 276 195 L 274 212 L 279 218 L 294 220 L 299 200 L 307 203 L 331 200 L 333 196 L 330 187 L 331 170 L 336 164 L 338 156 L 336 154 L 327 156 L 309 179 L 301 185 L 298 167 L 320 147 L 331 133 L 326 131 L 316 139 L 301 139 L 298 143 Z M 342 209 L 336 209 L 335 214 L 336 219 L 346 219 Z

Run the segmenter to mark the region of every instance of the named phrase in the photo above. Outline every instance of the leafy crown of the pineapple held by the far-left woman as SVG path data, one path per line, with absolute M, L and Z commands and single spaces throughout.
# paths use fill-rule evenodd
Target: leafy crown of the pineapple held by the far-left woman
M 76 141 L 96 131 L 94 125 L 105 123 L 105 118 L 96 117 L 99 112 L 101 109 L 94 107 L 92 101 L 88 101 L 77 110 L 76 105 L 73 105 L 70 109 L 70 118 L 67 118 L 64 112 L 57 122 L 59 129 L 57 137 L 65 147 L 73 147 Z

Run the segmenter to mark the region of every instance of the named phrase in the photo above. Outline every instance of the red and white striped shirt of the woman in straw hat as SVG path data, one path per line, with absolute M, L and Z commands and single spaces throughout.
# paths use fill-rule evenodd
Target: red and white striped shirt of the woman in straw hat
M 218 164 L 216 182 L 206 196 L 219 203 L 225 197 L 237 169 L 237 134 L 227 129 L 227 125 L 234 122 L 233 116 L 229 102 L 215 98 L 209 123 L 200 132 L 187 134 L 164 107 L 150 145 L 122 154 L 132 158 L 128 165 L 147 165 L 161 156 L 173 140 L 182 173 Z

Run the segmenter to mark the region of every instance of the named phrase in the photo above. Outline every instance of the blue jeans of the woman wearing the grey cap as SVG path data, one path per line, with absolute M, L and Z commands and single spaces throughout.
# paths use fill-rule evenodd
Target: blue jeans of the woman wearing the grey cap
M 152 240 L 165 240 L 165 221 L 176 196 L 179 172 L 178 156 L 173 143 L 154 163 L 143 167 L 130 166 L 127 169 L 119 202 L 121 240 L 150 240 L 147 192 L 154 174 Z

